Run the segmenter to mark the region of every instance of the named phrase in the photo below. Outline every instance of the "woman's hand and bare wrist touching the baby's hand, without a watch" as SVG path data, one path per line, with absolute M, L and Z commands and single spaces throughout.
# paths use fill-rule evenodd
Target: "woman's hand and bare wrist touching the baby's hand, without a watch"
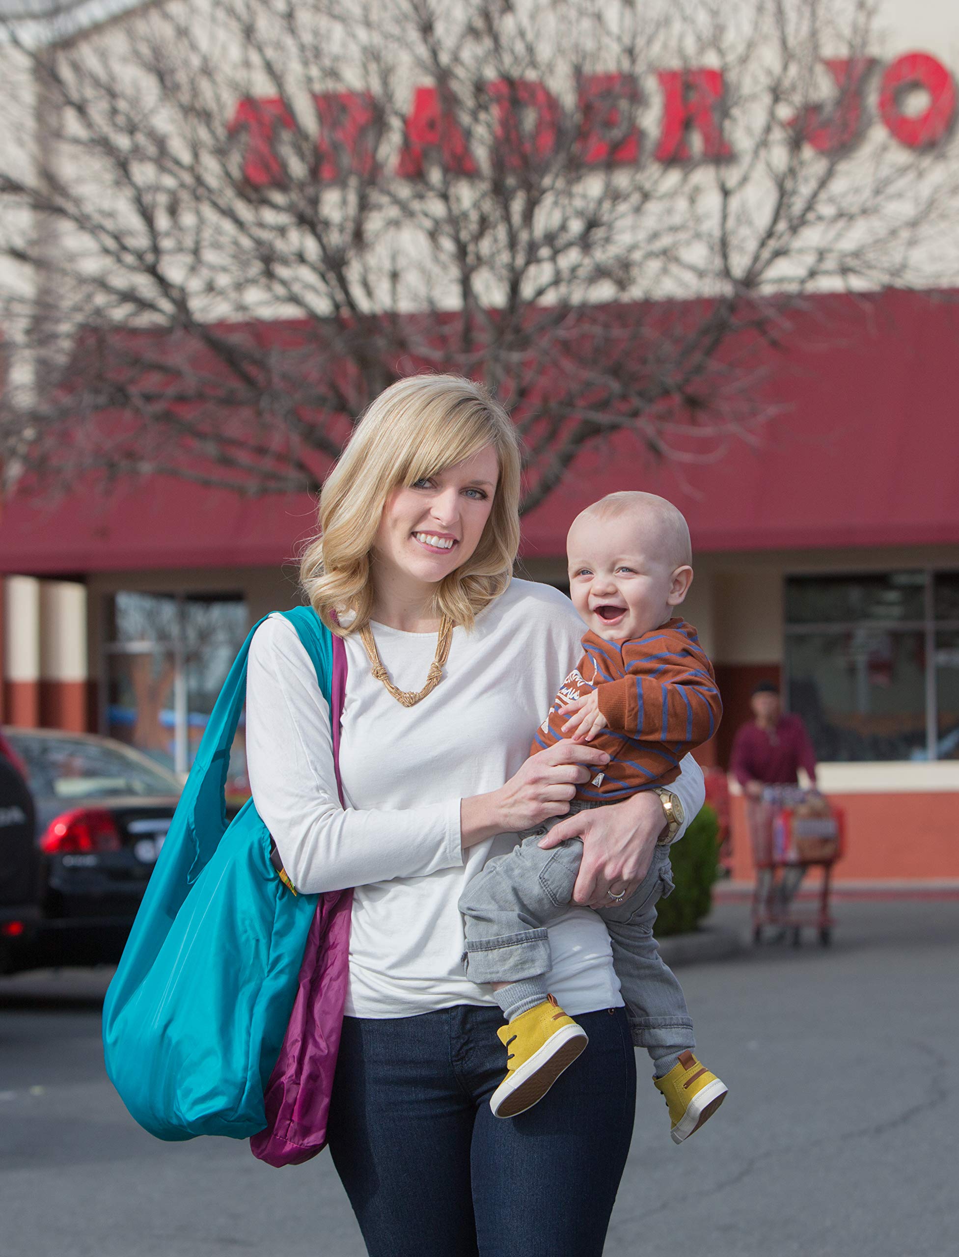
M 463 846 L 471 847 L 495 833 L 518 833 L 553 816 L 566 816 L 577 786 L 596 776 L 610 757 L 596 747 L 569 740 L 537 752 L 489 794 L 474 794 L 460 803 Z

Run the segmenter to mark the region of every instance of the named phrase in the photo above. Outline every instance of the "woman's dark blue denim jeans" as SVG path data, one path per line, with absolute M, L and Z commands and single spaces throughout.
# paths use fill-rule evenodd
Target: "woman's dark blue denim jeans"
M 577 1021 L 589 1046 L 518 1117 L 498 1008 L 347 1017 L 329 1150 L 370 1257 L 601 1257 L 636 1106 L 625 1008 Z

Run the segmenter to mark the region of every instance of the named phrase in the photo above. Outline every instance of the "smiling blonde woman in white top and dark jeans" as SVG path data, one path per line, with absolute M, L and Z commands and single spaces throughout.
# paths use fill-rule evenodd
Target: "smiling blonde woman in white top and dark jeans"
M 548 1105 L 493 1115 L 501 1014 L 461 964 L 466 881 L 518 831 L 563 816 L 606 762 L 569 742 L 527 758 L 582 623 L 562 593 L 512 577 L 518 500 L 509 416 L 451 376 L 387 388 L 327 479 L 302 581 L 346 639 L 346 808 L 292 626 L 270 617 L 250 650 L 256 808 L 298 889 L 356 887 L 329 1148 L 371 1257 L 600 1254 L 632 1134 L 635 1058 L 610 939 L 581 905 L 642 880 L 666 827 L 657 796 L 563 822 L 584 855 L 574 903 L 549 930 L 549 983 L 589 1046 Z M 691 760 L 671 788 L 695 815 Z

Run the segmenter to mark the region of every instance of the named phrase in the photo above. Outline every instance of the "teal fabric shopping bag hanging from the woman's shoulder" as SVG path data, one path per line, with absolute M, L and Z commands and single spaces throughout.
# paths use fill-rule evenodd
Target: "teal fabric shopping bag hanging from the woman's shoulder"
M 284 615 L 329 703 L 332 635 L 309 607 Z M 317 895 L 294 895 L 280 881 L 253 799 L 226 823 L 230 745 L 256 627 L 216 700 L 103 1006 L 107 1073 L 160 1139 L 246 1139 L 266 1126 L 264 1089 L 317 910 Z

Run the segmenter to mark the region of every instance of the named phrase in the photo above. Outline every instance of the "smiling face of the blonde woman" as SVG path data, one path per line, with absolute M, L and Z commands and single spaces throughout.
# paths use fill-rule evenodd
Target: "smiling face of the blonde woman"
M 491 445 L 386 499 L 373 541 L 376 571 L 391 581 L 437 585 L 473 554 L 493 509 L 499 460 Z

